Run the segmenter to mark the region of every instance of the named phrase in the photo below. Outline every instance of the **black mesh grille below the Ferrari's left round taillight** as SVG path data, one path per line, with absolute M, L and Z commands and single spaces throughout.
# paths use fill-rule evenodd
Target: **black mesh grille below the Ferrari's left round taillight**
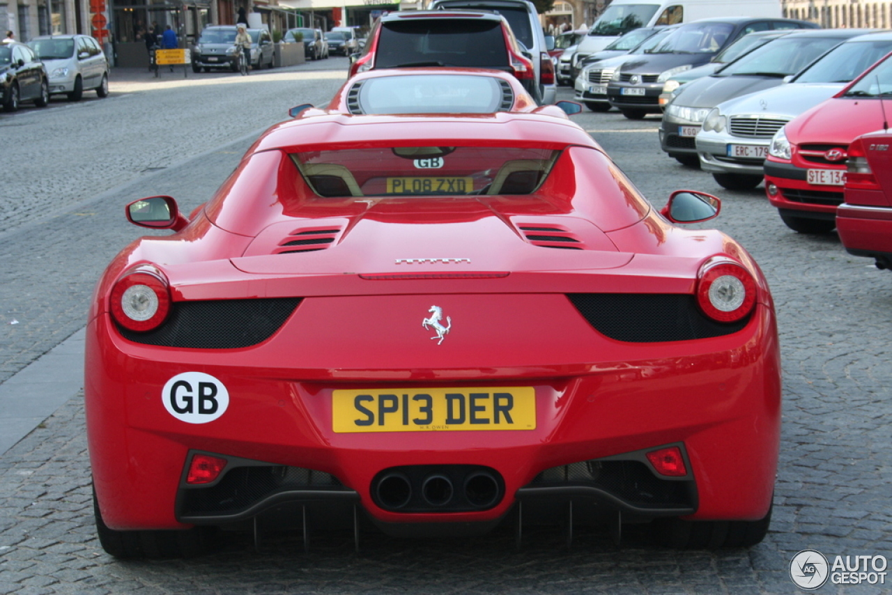
M 235 349 L 267 340 L 301 298 L 174 302 L 163 325 L 148 333 L 118 326 L 135 343 L 192 349 Z

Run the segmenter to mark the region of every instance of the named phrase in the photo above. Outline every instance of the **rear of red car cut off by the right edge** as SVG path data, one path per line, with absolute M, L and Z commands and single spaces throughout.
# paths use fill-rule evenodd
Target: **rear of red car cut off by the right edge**
M 892 134 L 878 130 L 848 146 L 848 169 L 837 210 L 837 232 L 847 252 L 892 269 Z

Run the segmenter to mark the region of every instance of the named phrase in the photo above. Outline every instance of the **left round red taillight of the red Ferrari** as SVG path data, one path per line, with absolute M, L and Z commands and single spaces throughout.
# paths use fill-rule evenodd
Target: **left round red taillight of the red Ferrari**
M 148 273 L 122 277 L 111 290 L 111 316 L 131 331 L 150 331 L 167 318 L 170 311 L 168 285 Z

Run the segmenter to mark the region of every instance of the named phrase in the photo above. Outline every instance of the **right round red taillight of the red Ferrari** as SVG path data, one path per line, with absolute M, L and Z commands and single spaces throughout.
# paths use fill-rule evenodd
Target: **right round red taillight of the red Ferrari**
M 756 280 L 739 265 L 714 265 L 700 275 L 697 302 L 709 318 L 736 322 L 756 304 Z

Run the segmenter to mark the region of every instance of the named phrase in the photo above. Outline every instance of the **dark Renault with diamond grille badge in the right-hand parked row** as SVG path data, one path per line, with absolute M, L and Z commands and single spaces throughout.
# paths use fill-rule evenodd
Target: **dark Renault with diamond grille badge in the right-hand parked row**
M 754 31 L 812 28 L 813 24 L 792 19 L 729 17 L 682 25 L 651 53 L 625 62 L 607 85 L 607 99 L 626 118 L 640 120 L 660 113 L 663 84 L 679 72 L 706 64 L 739 37 Z

